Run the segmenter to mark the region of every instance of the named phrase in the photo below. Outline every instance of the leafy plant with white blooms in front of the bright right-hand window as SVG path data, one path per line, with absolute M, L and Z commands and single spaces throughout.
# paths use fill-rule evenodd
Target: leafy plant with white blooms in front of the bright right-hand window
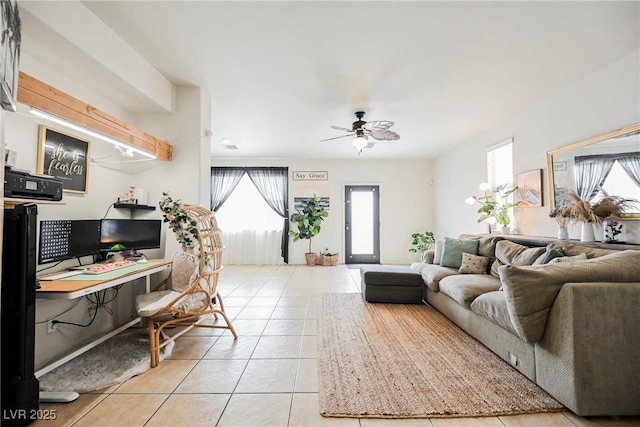
M 502 234 L 508 234 L 511 217 L 509 213 L 512 208 L 518 206 L 520 202 L 512 202 L 510 196 L 518 189 L 512 184 L 501 184 L 494 189 L 490 189 L 488 184 L 481 184 L 481 196 L 472 196 L 470 204 L 480 203 L 478 213 L 481 214 L 478 222 L 487 221 L 489 224 L 496 222 L 502 226 Z

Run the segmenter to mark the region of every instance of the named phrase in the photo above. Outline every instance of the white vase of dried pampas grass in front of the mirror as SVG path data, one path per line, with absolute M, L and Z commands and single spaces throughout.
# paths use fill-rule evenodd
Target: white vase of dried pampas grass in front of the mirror
M 569 221 L 582 224 L 580 241 L 595 241 L 593 225 L 602 224 L 608 218 L 620 218 L 627 209 L 638 205 L 635 199 L 604 194 L 600 199 L 590 202 L 581 198 L 578 193 L 569 190 L 566 203 L 556 209 L 556 216 L 569 218 Z

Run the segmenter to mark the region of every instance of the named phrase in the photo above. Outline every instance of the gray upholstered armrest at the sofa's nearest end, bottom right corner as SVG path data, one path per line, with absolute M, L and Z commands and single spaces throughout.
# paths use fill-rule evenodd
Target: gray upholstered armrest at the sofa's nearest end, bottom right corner
M 536 382 L 578 415 L 640 414 L 640 282 L 567 283 L 536 344 Z

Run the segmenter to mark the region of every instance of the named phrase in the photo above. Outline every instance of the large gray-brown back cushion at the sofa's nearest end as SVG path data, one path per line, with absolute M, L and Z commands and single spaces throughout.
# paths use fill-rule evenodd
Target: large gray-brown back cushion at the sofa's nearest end
M 638 282 L 640 251 L 617 251 L 596 259 L 547 265 L 500 267 L 511 323 L 528 343 L 544 335 L 549 310 L 565 283 Z M 622 285 L 621 285 L 622 286 Z

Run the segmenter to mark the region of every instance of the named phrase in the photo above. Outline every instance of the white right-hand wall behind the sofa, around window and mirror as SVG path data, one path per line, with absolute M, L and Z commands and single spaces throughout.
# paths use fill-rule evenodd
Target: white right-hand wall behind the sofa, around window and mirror
M 479 194 L 478 185 L 486 181 L 486 148 L 513 137 L 514 173 L 543 170 L 544 206 L 517 209 L 519 232 L 555 237 L 557 225 L 548 217 L 546 152 L 639 122 L 639 76 L 636 51 L 435 159 L 437 235 L 486 232 L 486 225 L 476 221 L 477 206 L 464 200 Z M 625 221 L 625 226 L 627 241 L 640 243 L 640 221 Z M 571 238 L 579 238 L 579 226 L 569 231 Z

